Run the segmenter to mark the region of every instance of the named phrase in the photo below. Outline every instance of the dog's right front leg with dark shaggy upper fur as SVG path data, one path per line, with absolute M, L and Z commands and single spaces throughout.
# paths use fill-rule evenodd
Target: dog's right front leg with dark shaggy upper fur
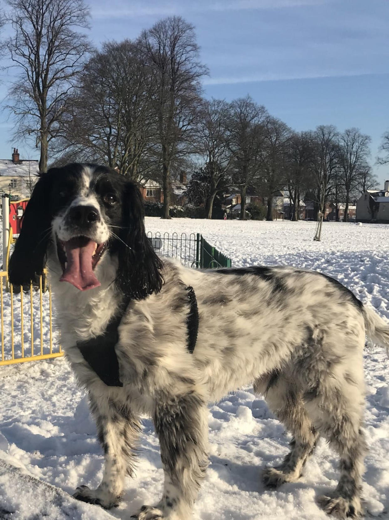
M 164 491 L 157 505 L 144 505 L 134 518 L 189 520 L 208 466 L 207 414 L 204 399 L 195 391 L 158 399 L 154 423 L 164 464 Z

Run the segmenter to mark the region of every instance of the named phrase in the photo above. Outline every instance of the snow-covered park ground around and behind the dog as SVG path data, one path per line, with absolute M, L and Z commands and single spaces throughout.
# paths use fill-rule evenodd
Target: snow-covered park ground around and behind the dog
M 389 320 L 389 226 L 325 223 L 322 242 L 313 241 L 312 222 L 146 218 L 146 229 L 200 232 L 235 267 L 289 264 L 324 272 Z M 389 360 L 382 348 L 365 349 L 365 368 L 366 516 L 389 518 Z M 157 501 L 163 470 L 149 419 L 143 421 L 136 478 L 127 479 L 119 508 L 104 511 L 69 496 L 80 484 L 100 483 L 103 454 L 66 361 L 0 367 L 0 373 L 0 518 L 128 520 L 143 503 Z M 263 488 L 260 470 L 281 462 L 290 438 L 251 387 L 210 407 L 209 440 L 210 466 L 194 518 L 328 518 L 315 498 L 336 486 L 338 470 L 337 456 L 323 440 L 298 483 Z

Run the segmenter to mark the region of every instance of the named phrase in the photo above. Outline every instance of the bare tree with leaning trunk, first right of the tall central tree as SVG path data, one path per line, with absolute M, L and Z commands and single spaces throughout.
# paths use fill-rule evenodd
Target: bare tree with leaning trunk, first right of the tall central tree
M 234 158 L 230 147 L 230 104 L 221 99 L 205 101 L 199 114 L 197 139 L 206 164 L 209 190 L 205 201 L 205 217 L 212 218 L 213 201 L 225 188 Z

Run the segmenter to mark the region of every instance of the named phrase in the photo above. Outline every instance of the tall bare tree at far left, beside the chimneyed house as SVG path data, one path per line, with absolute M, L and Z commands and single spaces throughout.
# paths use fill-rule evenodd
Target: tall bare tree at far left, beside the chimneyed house
M 49 143 L 90 50 L 86 35 L 75 30 L 88 27 L 89 10 L 83 0 L 8 0 L 8 5 L 13 34 L 4 45 L 18 76 L 7 108 L 16 119 L 15 136 L 35 137 L 39 172 L 45 172 Z

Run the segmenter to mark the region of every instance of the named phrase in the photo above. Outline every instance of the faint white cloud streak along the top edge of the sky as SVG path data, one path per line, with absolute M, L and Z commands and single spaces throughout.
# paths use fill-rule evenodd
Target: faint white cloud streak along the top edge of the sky
M 147 16 L 169 16 L 180 15 L 191 12 L 209 11 L 242 11 L 260 9 L 281 9 L 288 7 L 302 7 L 307 5 L 320 5 L 328 0 L 230 0 L 223 2 L 193 2 L 192 5 L 185 3 L 164 3 L 159 5 L 144 5 L 133 3 L 131 8 L 125 7 L 126 4 L 116 2 L 109 8 L 105 5 L 92 7 L 92 17 L 113 19 L 113 18 L 137 18 Z

